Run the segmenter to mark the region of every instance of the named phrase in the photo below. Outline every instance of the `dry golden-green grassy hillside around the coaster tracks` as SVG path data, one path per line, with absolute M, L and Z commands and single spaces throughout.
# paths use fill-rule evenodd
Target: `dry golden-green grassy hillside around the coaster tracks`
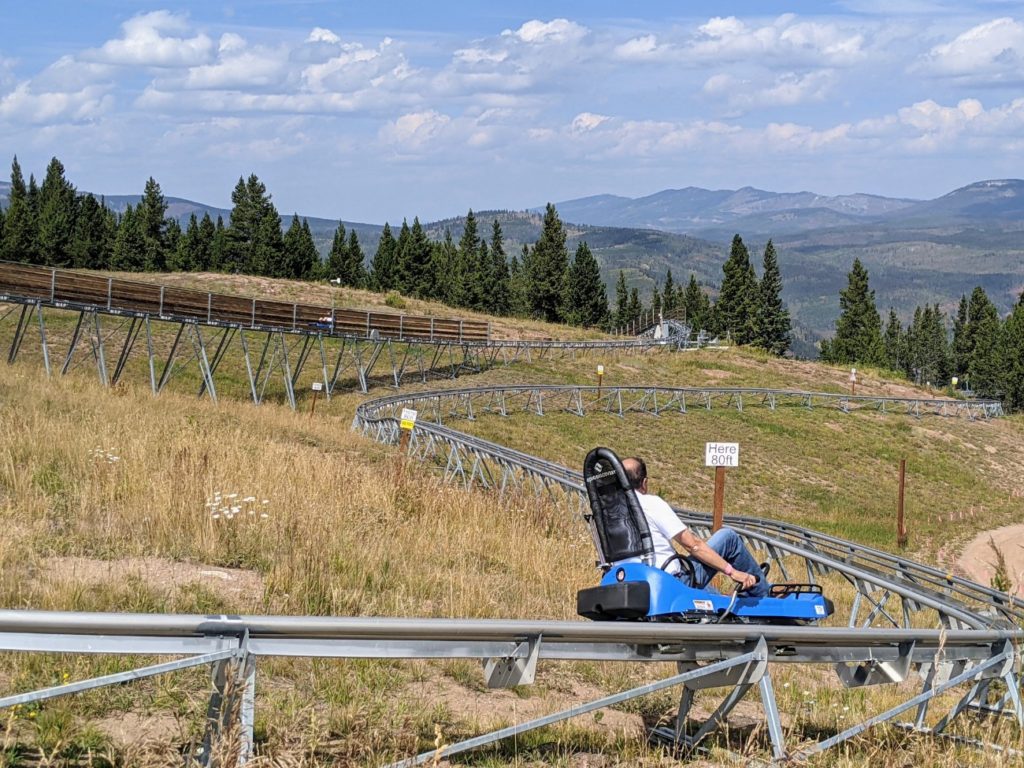
M 223 279 L 198 280 L 207 286 Z M 231 287 L 308 301 L 326 294 L 307 290 L 328 290 Z M 336 298 L 358 304 L 365 297 Z M 0 323 L 0 346 L 11 331 L 9 318 Z M 502 327 L 510 335 L 561 331 Z M 602 361 L 606 384 L 846 386 L 844 371 L 742 350 L 548 358 L 454 385 L 589 382 Z M 577 590 L 596 580 L 590 537 L 564 509 L 447 487 L 431 467 L 402 466 L 392 449 L 352 434 L 362 395 L 322 399 L 310 418 L 305 400 L 292 413 L 227 395 L 217 406 L 197 399 L 189 371 L 154 397 L 140 374 L 113 390 L 95 383 L 88 365 L 47 380 L 31 341 L 15 366 L 0 366 L 0 606 L 570 620 Z M 874 372 L 862 372 L 858 388 L 906 391 Z M 727 513 L 791 519 L 883 548 L 894 546 L 895 463 L 906 456 L 911 549 L 943 565 L 975 532 L 1019 517 L 1024 497 L 1020 417 L 967 422 L 748 408 L 624 420 L 483 417 L 461 426 L 572 466 L 598 442 L 641 453 L 659 492 L 702 509 L 711 505 L 712 480 L 699 466 L 700 443 L 737 439 L 743 462 L 729 475 Z M 231 507 L 238 512 L 225 514 Z M 0 695 L 123 663 L 4 654 Z M 435 725 L 453 741 L 674 668 L 552 663 L 542 665 L 536 686 L 486 693 L 478 666 L 463 662 L 261 659 L 259 670 L 255 765 L 334 766 L 380 765 L 431 745 Z M 885 689 L 839 688 L 826 670 L 782 668 L 774 684 L 791 744 L 835 732 L 844 713 L 878 712 L 888 701 Z M 206 674 L 196 670 L 23 710 L 2 726 L 0 765 L 174 764 L 200 731 L 206 686 Z M 651 696 L 467 761 L 677 765 L 639 735 L 675 706 L 669 693 Z M 737 723 L 754 713 L 741 709 Z M 739 725 L 749 743 L 731 745 L 763 755 L 763 733 Z M 718 750 L 726 743 L 713 741 L 708 764 L 725 760 Z M 997 755 L 885 730 L 817 764 L 911 762 L 1002 764 Z

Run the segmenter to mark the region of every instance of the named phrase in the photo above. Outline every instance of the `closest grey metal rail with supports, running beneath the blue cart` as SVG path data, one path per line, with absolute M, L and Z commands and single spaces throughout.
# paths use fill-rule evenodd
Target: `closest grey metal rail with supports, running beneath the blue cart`
M 0 649 L 78 653 L 184 656 L 150 667 L 79 680 L 40 691 L 0 698 L 0 707 L 33 703 L 104 685 L 126 683 L 189 667 L 212 665 L 214 691 L 203 746 L 191 757 L 209 765 L 218 739 L 231 738 L 240 763 L 253 751 L 256 670 L 261 656 L 337 658 L 476 658 L 484 665 L 489 687 L 531 683 L 540 659 L 675 662 L 677 674 L 563 712 L 522 723 L 460 744 L 444 755 L 489 743 L 550 725 L 602 707 L 669 687 L 682 688 L 674 739 L 696 746 L 754 686 L 764 708 L 775 758 L 798 758 L 846 740 L 870 725 L 919 708 L 919 725 L 928 705 L 951 688 L 971 683 L 971 695 L 994 681 L 1006 687 L 1007 707 L 1024 722 L 1016 694 L 1018 680 L 1013 642 L 1016 629 L 922 630 L 902 628 L 822 628 L 757 625 L 686 625 L 648 623 L 525 622 L 442 618 L 370 618 L 316 616 L 154 615 L 145 613 L 63 613 L 0 610 Z M 787 752 L 770 675 L 771 664 L 834 664 L 850 686 L 905 679 L 912 667 L 928 668 L 922 692 L 846 731 L 799 752 Z M 709 688 L 730 691 L 716 713 L 694 733 L 686 734 L 694 693 Z M 965 709 L 965 699 L 933 725 L 935 733 Z M 394 765 L 433 760 L 433 752 Z

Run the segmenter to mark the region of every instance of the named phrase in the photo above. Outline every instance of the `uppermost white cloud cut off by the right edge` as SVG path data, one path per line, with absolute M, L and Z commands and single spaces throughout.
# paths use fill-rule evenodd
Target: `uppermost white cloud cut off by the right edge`
M 1024 71 L 1024 24 L 996 18 L 972 27 L 924 58 L 927 72 L 954 77 L 1020 80 Z

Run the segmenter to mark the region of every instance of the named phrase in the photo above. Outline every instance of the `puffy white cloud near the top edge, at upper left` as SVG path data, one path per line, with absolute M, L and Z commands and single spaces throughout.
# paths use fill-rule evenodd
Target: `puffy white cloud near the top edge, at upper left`
M 122 66 L 189 67 L 206 62 L 213 51 L 213 41 L 204 34 L 190 38 L 165 34 L 188 31 L 184 16 L 166 10 L 139 14 L 121 28 L 121 38 L 85 51 L 82 58 Z

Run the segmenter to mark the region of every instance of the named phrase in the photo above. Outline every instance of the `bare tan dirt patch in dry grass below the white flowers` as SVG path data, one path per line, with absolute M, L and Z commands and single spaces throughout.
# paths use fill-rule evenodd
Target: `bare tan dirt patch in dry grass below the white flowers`
M 225 598 L 258 600 L 263 595 L 263 578 L 252 570 L 176 562 L 163 557 L 127 557 L 122 560 L 49 557 L 40 563 L 39 568 L 39 578 L 50 582 L 99 584 L 123 581 L 133 575 L 168 591 L 199 583 Z

